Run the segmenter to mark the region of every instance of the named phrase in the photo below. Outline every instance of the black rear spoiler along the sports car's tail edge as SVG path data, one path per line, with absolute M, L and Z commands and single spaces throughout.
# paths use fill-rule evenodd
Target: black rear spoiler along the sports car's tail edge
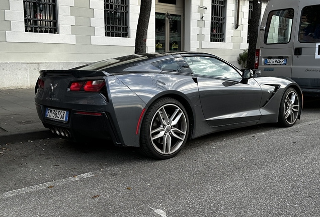
M 89 70 L 40 70 L 40 75 L 45 77 L 47 74 L 52 76 L 67 76 L 73 75 L 74 77 L 98 77 L 98 76 L 110 76 L 108 72 L 104 71 L 89 71 Z

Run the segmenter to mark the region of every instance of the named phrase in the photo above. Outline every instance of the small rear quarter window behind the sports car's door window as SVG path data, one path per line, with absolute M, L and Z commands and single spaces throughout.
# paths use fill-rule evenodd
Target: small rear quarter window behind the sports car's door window
M 163 71 L 192 73 L 188 64 L 182 57 L 166 59 L 151 64 Z

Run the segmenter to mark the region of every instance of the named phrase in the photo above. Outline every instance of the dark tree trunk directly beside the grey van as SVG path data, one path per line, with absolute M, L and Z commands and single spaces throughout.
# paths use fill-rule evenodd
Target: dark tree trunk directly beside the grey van
M 259 21 L 261 15 L 261 0 L 253 0 L 253 10 L 250 19 L 250 30 L 249 30 L 249 49 L 248 49 L 248 60 L 247 68 L 255 68 L 255 56 L 256 56 L 256 45 L 259 32 Z

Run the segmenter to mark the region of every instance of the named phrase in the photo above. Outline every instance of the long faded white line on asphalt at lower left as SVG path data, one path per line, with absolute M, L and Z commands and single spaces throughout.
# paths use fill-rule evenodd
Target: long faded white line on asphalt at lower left
M 25 187 L 25 188 L 13 190 L 13 191 L 8 191 L 8 192 L 5 192 L 3 194 L 0 194 L 0 196 L 1 197 L 11 197 L 11 196 L 15 196 L 15 195 L 18 195 L 18 194 L 23 194 L 23 193 L 36 191 L 36 190 L 40 190 L 40 189 L 43 189 L 43 188 L 47 188 L 48 186 L 56 186 L 56 185 L 61 185 L 61 184 L 67 184 L 67 183 L 70 183 L 72 181 L 77 181 L 77 180 L 80 180 L 80 179 L 89 178 L 89 177 L 92 177 L 94 175 L 95 174 L 93 174 L 92 172 L 85 173 L 85 174 L 77 175 L 75 177 L 69 177 L 69 178 L 65 178 L 65 179 L 61 179 L 61 180 L 56 180 L 56 181 L 47 182 L 47 183 L 34 185 L 34 186 L 30 186 L 30 187 Z

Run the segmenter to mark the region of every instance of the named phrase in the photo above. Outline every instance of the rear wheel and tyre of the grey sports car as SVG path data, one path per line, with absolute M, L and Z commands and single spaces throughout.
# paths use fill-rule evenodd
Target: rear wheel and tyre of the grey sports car
M 184 106 L 174 98 L 159 98 L 149 106 L 141 123 L 140 150 L 155 159 L 169 159 L 181 151 L 188 134 Z

